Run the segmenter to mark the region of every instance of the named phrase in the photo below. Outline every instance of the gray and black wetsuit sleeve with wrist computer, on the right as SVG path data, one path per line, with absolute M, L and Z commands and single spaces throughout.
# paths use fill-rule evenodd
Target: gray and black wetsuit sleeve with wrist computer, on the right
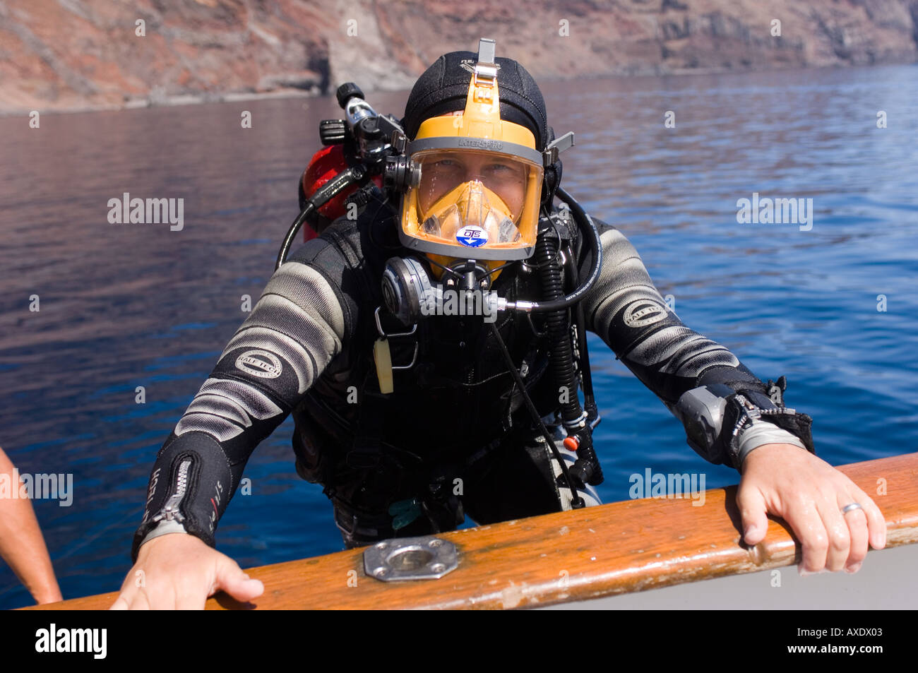
M 765 443 L 813 452 L 806 414 L 784 406 L 784 377 L 762 383 L 719 343 L 690 330 L 656 290 L 621 231 L 595 220 L 601 233 L 599 280 L 584 299 L 587 329 L 682 421 L 689 445 L 714 464 L 740 469 Z M 581 269 L 588 269 L 589 254 Z

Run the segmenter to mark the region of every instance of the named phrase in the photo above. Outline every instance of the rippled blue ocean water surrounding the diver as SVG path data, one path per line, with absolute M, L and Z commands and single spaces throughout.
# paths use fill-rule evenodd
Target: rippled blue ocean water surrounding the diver
M 577 134 L 565 187 L 633 241 L 689 327 L 756 376 L 788 377 L 818 454 L 918 450 L 918 68 L 543 91 L 554 129 Z M 370 100 L 400 115 L 406 97 Z M 0 118 L 0 446 L 21 473 L 73 475 L 70 506 L 33 501 L 65 598 L 120 586 L 155 454 L 271 275 L 319 120 L 338 117 L 314 98 L 48 114 L 39 129 Z M 184 228 L 109 223 L 125 192 L 184 198 Z M 754 193 L 812 198 L 812 228 L 738 222 Z M 737 482 L 591 343 L 605 501 L 646 468 Z M 219 524 L 218 549 L 243 567 L 342 548 L 321 488 L 293 470 L 292 428 L 258 447 L 252 494 Z M 30 602 L 0 562 L 0 608 Z

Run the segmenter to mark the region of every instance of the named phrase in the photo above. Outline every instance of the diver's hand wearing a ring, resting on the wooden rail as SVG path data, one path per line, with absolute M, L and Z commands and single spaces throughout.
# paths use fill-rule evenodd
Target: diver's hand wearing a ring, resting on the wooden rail
M 852 502 L 862 509 L 843 514 L 842 508 Z M 736 504 L 746 544 L 765 538 L 766 513 L 789 523 L 803 547 L 801 575 L 843 567 L 856 573 L 868 541 L 874 549 L 886 546 L 886 521 L 868 494 L 793 444 L 765 444 L 746 456 Z

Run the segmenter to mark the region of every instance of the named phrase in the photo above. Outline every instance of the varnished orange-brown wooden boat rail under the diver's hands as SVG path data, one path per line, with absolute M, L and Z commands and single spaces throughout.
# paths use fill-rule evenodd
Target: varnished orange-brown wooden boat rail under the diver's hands
M 887 548 L 918 542 L 918 453 L 839 469 L 887 522 Z M 364 573 L 363 549 L 246 570 L 264 593 L 245 605 L 220 593 L 207 610 L 513 609 L 589 600 L 790 566 L 800 544 L 769 517 L 765 540 L 741 542 L 736 487 L 692 499 L 635 499 L 586 510 L 440 533 L 459 567 L 439 579 L 382 582 Z M 881 554 L 871 550 L 869 556 Z M 852 576 L 856 577 L 856 576 Z M 33 610 L 107 609 L 118 592 Z

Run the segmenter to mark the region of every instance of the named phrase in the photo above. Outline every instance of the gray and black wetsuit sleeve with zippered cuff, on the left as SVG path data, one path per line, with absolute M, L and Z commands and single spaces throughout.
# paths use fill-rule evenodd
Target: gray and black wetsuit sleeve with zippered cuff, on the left
M 140 544 L 164 533 L 215 545 L 217 522 L 253 449 L 341 353 L 353 300 L 341 295 L 341 278 L 322 270 L 330 254 L 326 241 L 309 241 L 274 273 L 162 445 L 134 534 L 134 561 Z

